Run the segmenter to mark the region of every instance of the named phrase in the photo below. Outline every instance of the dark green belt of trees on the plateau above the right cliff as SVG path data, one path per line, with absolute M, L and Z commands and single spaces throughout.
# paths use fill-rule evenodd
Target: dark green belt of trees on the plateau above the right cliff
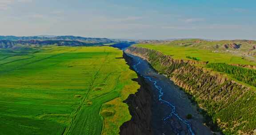
M 206 67 L 211 67 L 214 71 L 227 73 L 239 81 L 256 86 L 256 70 L 224 63 L 211 63 L 207 64 Z

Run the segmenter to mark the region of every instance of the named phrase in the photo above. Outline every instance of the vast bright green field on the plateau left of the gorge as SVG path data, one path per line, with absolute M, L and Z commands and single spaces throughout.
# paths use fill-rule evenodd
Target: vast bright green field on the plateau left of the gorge
M 0 135 L 117 134 L 139 88 L 120 57 L 108 46 L 0 50 Z

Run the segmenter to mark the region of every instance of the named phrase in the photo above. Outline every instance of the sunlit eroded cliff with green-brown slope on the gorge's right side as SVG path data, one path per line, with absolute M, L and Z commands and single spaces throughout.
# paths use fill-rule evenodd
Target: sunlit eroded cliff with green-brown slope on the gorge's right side
M 161 52 L 129 47 L 126 53 L 147 60 L 152 67 L 191 94 L 226 135 L 256 135 L 256 92 L 225 75 L 194 64 L 194 60 L 173 60 Z

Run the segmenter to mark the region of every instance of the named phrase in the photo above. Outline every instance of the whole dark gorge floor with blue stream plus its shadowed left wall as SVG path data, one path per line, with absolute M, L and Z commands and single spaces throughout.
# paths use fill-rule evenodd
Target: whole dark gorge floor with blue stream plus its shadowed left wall
M 203 117 L 179 87 L 139 57 L 126 53 L 123 57 L 138 73 L 136 81 L 141 88 L 125 101 L 132 119 L 120 127 L 120 135 L 212 135 L 203 125 Z M 193 119 L 186 119 L 188 113 Z

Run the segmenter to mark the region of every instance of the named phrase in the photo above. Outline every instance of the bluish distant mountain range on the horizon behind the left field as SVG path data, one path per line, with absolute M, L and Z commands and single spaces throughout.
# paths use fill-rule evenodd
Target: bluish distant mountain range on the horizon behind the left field
M 107 38 L 88 38 L 81 36 L 0 36 L 0 48 L 29 48 L 29 46 L 57 45 L 57 46 L 95 46 L 118 43 L 119 40 Z

